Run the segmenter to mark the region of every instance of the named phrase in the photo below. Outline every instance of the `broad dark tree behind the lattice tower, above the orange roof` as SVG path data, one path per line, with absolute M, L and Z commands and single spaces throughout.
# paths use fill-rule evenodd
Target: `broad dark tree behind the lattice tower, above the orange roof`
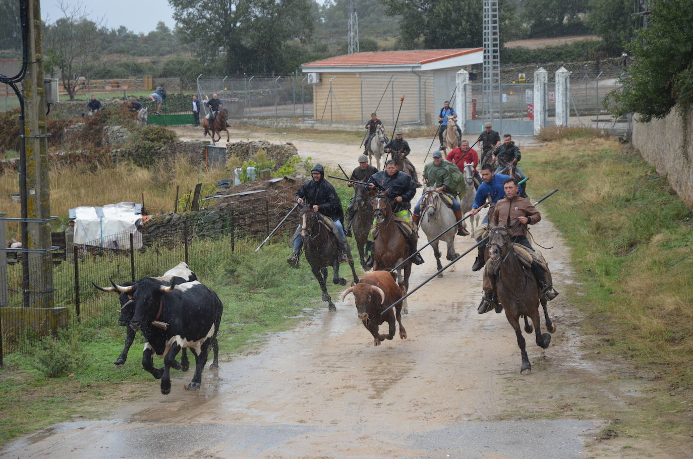
M 405 49 L 475 48 L 482 46 L 482 0 L 382 0 L 388 15 L 401 15 L 399 42 Z M 510 0 L 500 0 L 500 41 L 515 15 Z

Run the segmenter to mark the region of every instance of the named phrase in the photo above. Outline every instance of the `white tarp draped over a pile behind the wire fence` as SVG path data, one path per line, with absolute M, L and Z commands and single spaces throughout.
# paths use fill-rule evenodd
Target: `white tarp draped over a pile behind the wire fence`
M 75 221 L 74 242 L 130 250 L 132 233 L 134 248 L 139 249 L 142 247 L 142 234 L 137 230 L 142 225 L 140 212 L 141 205 L 134 202 L 70 209 Z

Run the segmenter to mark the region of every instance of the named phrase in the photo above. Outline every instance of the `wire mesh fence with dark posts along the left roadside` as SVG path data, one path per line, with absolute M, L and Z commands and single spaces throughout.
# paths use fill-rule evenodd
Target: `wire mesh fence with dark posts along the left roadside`
M 93 327 L 113 324 L 119 316 L 119 302 L 115 295 L 98 291 L 91 282 L 110 286 L 111 279 L 123 283 L 159 276 L 186 261 L 204 283 L 204 275 L 211 268 L 207 263 L 210 257 L 225 254 L 230 259 L 249 254 L 292 205 L 292 201 L 282 199 L 247 199 L 195 220 L 159 225 L 155 233 L 119 233 L 109 238 L 111 247 L 121 249 L 99 247 L 100 241 L 74 245 L 68 248 L 66 261 L 55 262 L 49 284 L 32 284 L 28 307 L 24 307 L 21 263 L 0 266 L 0 279 L 6 279 L 0 282 L 4 284 L 0 289 L 2 355 L 28 353 L 45 336 L 55 336 L 73 320 Z M 293 232 L 297 223 L 297 215 L 292 214 L 279 234 Z M 138 237 L 141 244 L 136 241 Z M 281 240 L 281 236 L 274 238 Z M 42 270 L 44 263 L 53 263 L 50 253 L 29 260 L 30 276 Z M 53 307 L 42 307 L 42 298 L 49 294 Z

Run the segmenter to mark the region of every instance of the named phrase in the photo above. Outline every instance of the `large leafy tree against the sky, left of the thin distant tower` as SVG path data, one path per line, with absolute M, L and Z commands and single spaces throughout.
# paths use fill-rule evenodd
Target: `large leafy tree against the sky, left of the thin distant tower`
M 168 0 L 200 57 L 221 56 L 229 73 L 290 71 L 290 42 L 313 33 L 309 0 Z

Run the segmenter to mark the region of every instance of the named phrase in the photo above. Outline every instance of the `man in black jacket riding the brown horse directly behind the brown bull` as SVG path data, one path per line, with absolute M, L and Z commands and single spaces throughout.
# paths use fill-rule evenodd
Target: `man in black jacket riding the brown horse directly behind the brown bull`
M 392 211 L 396 217 L 402 218 L 405 221 L 411 221 L 411 213 L 409 209 L 412 208 L 412 198 L 416 194 L 416 184 L 414 180 L 408 174 L 397 170 L 397 165 L 392 159 L 388 159 L 385 163 L 385 171 L 380 171 L 373 174 L 373 176 L 368 180 L 371 184 L 371 189 L 376 186 L 380 189 L 387 190 L 387 197 L 392 199 Z M 377 220 L 373 220 L 373 227 L 368 235 L 368 242 L 366 243 L 366 252 L 370 254 L 367 266 L 373 266 L 373 249 L 375 247 L 374 240 L 377 234 L 374 234 L 374 229 L 376 228 Z M 413 231 L 409 237 L 409 246 L 413 252 L 416 252 L 416 245 L 419 242 L 419 236 L 416 231 Z M 412 261 L 417 265 L 423 263 L 423 258 L 421 254 L 416 254 L 416 257 L 412 258 Z

